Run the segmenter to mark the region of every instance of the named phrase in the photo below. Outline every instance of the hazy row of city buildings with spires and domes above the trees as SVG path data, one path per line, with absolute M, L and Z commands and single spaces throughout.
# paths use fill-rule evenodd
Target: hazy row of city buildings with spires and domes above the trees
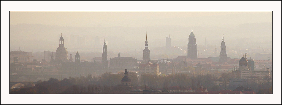
M 169 52 L 169 48 L 171 46 L 171 38 L 170 36 L 166 38 L 166 51 Z M 188 45 L 187 45 L 187 56 L 178 56 L 175 59 L 160 59 L 158 61 L 151 61 L 150 59 L 150 50 L 148 49 L 148 41 L 147 41 L 147 33 L 146 33 L 146 41 L 145 41 L 145 49 L 143 50 L 143 60 L 138 61 L 137 58 L 133 57 L 121 57 L 120 52 L 118 53 L 118 56 L 115 58 L 110 58 L 110 62 L 107 60 L 107 45 L 106 41 L 104 39 L 103 48 L 102 48 L 102 60 L 99 62 L 93 61 L 93 62 L 80 62 L 80 57 L 78 52 L 75 55 L 75 62 L 73 62 L 72 59 L 72 52 L 70 56 L 68 56 L 67 49 L 64 47 L 64 38 L 61 35 L 59 38 L 59 47 L 56 50 L 56 53 L 53 54 L 53 52 L 50 51 L 44 51 L 44 58 L 46 62 L 50 62 L 50 65 L 55 66 L 63 66 L 66 72 L 69 71 L 83 71 L 88 70 L 91 72 L 91 70 L 104 70 L 104 71 L 120 71 L 124 69 L 129 70 L 138 70 L 140 73 L 149 73 L 149 74 L 175 74 L 175 73 L 191 73 L 189 71 L 180 72 L 184 67 L 192 66 L 195 68 L 195 70 L 202 70 L 202 68 L 208 69 L 208 70 L 221 70 L 221 71 L 231 71 L 232 68 L 237 67 L 234 69 L 235 71 L 242 71 L 240 72 L 240 76 L 237 77 L 249 77 L 253 76 L 253 74 L 257 74 L 258 71 L 255 69 L 261 68 L 260 70 L 264 70 L 265 68 L 269 68 L 269 70 L 272 70 L 272 60 L 267 61 L 257 61 L 255 62 L 254 59 L 246 59 L 246 56 L 244 59 L 248 62 L 248 70 L 252 71 L 252 75 L 248 75 L 245 73 L 245 69 L 241 62 L 242 59 L 237 58 L 230 58 L 226 54 L 226 46 L 224 42 L 224 37 L 221 42 L 221 51 L 219 56 L 210 56 L 208 58 L 198 58 L 197 56 L 197 43 L 196 38 L 191 31 L 188 38 Z M 10 51 L 10 61 L 13 57 L 17 56 L 16 51 L 11 52 Z M 18 52 L 24 52 L 24 51 L 18 51 Z M 30 52 L 23 53 L 21 56 L 26 56 L 24 59 L 29 59 L 32 55 Z M 20 58 L 21 60 L 24 60 Z M 18 60 L 18 62 L 23 62 L 21 60 Z M 30 60 L 30 59 L 29 59 Z M 240 61 L 239 61 L 240 60 Z M 30 62 L 30 61 L 29 61 Z M 264 63 L 267 63 L 266 65 Z M 264 66 L 262 66 L 264 64 Z M 83 66 L 78 66 L 83 65 Z M 97 67 L 95 67 L 95 66 Z M 86 68 L 85 68 L 86 66 Z M 52 67 L 52 66 L 46 66 L 46 67 Z M 77 68 L 78 67 L 78 68 Z M 84 68 L 84 69 L 81 69 Z M 244 69 L 242 69 L 244 68 Z M 56 70 L 55 70 L 56 71 Z M 237 73 L 236 72 L 236 73 Z M 248 72 L 248 71 L 246 71 Z M 263 72 L 264 73 L 264 72 Z M 237 73 L 238 74 L 238 73 Z M 257 75 L 258 76 L 258 75 Z M 258 76 L 262 77 L 262 76 Z

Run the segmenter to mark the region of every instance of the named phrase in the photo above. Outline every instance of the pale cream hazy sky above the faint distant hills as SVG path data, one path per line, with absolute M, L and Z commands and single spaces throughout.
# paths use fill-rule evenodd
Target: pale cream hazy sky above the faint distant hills
M 272 22 L 272 12 L 10 12 L 10 24 L 93 26 L 222 26 Z

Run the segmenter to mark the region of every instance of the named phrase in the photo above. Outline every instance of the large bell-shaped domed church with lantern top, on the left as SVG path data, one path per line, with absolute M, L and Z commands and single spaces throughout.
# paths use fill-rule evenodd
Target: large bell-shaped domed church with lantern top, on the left
M 63 62 L 68 62 L 68 51 L 64 47 L 64 38 L 63 35 L 61 35 L 59 40 L 59 47 L 56 50 L 56 57 L 55 61 L 57 64 L 62 64 Z

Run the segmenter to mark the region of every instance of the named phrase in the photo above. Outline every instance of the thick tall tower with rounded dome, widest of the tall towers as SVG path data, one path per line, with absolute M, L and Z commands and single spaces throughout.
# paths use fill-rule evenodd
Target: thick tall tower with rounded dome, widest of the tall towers
M 197 53 L 198 50 L 197 50 L 196 38 L 192 30 L 188 38 L 187 57 L 190 59 L 197 59 L 198 58 Z

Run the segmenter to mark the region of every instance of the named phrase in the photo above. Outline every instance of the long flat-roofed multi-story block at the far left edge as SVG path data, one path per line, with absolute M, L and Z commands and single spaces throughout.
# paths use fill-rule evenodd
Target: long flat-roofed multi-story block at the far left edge
M 10 63 L 13 63 L 14 57 L 18 57 L 19 63 L 31 62 L 32 52 L 10 51 Z

